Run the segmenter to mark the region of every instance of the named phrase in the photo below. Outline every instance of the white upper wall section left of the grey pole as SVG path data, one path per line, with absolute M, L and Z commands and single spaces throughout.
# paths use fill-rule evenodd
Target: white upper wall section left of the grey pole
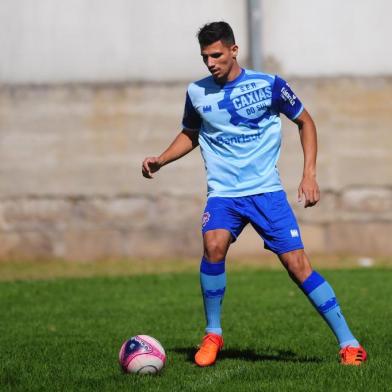
M 245 43 L 244 4 L 2 0 L 0 81 L 186 80 L 204 72 L 196 39 L 204 23 L 224 19 Z

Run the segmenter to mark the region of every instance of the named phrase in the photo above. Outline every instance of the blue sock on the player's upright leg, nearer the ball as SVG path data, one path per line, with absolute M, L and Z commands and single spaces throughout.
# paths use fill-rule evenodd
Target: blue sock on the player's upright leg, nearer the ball
M 225 260 L 210 263 L 203 257 L 200 264 L 200 285 L 207 320 L 206 333 L 222 335 L 220 313 L 226 290 Z

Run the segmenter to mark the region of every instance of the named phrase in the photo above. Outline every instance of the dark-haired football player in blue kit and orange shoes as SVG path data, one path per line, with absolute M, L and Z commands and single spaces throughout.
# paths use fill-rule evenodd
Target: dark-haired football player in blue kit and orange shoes
M 305 208 L 319 201 L 314 122 L 283 79 L 239 66 L 238 46 L 227 23 L 206 24 L 198 40 L 212 76 L 189 85 L 182 132 L 160 156 L 146 158 L 142 166 L 144 177 L 152 178 L 198 145 L 205 162 L 208 199 L 202 219 L 200 282 L 207 327 L 195 362 L 212 365 L 223 347 L 225 257 L 250 223 L 330 326 L 340 345 L 341 363 L 360 365 L 366 352 L 347 326 L 332 287 L 312 270 L 276 167 L 283 113 L 297 124 L 304 153 L 298 198 L 304 199 Z

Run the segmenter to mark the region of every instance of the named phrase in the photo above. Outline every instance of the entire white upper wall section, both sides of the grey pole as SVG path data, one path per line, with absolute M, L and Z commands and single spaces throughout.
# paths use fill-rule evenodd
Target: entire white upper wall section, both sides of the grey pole
M 392 74 L 387 0 L 263 0 L 263 51 L 284 75 Z M 0 82 L 189 80 L 195 38 L 232 24 L 247 58 L 245 0 L 2 0 Z

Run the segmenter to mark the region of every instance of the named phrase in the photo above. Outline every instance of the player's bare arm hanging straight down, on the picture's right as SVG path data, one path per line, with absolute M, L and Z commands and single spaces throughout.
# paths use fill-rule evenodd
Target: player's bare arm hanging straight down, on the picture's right
M 320 190 L 316 180 L 316 126 L 306 109 L 304 109 L 302 113 L 292 121 L 298 125 L 302 150 L 304 153 L 304 171 L 301 183 L 298 187 L 298 201 L 301 202 L 304 196 L 304 207 L 313 207 L 320 200 Z

